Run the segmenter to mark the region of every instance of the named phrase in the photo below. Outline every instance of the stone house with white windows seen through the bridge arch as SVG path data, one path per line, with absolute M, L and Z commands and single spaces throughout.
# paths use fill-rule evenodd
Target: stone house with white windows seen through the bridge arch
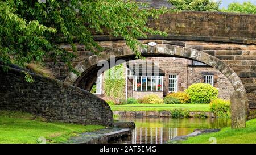
M 219 90 L 219 97 L 230 99 L 234 89 L 218 70 L 201 62 L 175 57 L 151 57 L 123 64 L 126 98 L 157 94 L 163 98 L 171 92 L 184 91 L 193 83 L 209 83 Z M 104 97 L 104 76 L 97 78 L 96 94 Z

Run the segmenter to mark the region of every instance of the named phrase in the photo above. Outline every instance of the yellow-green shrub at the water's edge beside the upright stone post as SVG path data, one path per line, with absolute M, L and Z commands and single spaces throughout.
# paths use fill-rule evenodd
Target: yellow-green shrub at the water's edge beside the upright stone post
M 229 100 L 215 99 L 210 102 L 210 111 L 216 118 L 230 118 L 231 107 Z

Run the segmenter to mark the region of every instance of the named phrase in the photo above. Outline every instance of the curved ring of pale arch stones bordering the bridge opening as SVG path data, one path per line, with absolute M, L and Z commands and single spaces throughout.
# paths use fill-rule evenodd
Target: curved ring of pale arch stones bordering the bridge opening
M 224 61 L 197 49 L 183 47 L 179 45 L 157 44 L 155 47 L 150 47 L 149 45 L 147 45 L 146 48 L 141 48 L 139 50 L 144 57 L 187 58 L 190 60 L 203 62 L 204 64 L 207 64 L 219 70 L 222 74 L 224 74 L 224 76 L 228 78 L 235 90 L 235 93 L 231 95 L 232 127 L 245 127 L 246 110 L 248 108 L 246 90 L 237 73 L 234 72 L 234 70 Z M 109 48 L 101 52 L 100 55 L 89 56 L 88 58 L 85 58 L 85 60 L 77 64 L 75 68 L 79 71 L 80 76 L 77 76 L 74 73 L 69 73 L 69 75 L 65 79 L 65 82 L 71 85 L 75 85 L 77 87 L 81 87 L 85 90 L 90 90 L 93 86 L 94 81 L 96 81 L 97 72 L 101 68 L 101 66 L 97 66 L 97 63 L 101 60 L 110 61 L 112 55 L 115 56 L 115 61 L 118 61 L 119 59 L 135 59 L 135 53 L 131 51 L 131 49 L 127 47 L 127 45 L 116 48 Z M 237 102 L 236 98 L 238 98 L 238 100 L 240 98 L 240 102 Z

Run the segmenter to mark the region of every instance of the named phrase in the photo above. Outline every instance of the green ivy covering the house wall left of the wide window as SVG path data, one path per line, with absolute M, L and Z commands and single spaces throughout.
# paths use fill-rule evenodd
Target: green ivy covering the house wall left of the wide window
M 123 74 L 123 64 L 114 66 L 105 72 L 104 91 L 110 99 L 125 99 L 125 76 Z

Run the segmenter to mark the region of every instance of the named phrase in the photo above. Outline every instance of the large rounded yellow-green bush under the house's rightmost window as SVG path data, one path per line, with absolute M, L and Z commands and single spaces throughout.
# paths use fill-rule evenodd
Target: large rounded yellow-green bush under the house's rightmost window
M 191 103 L 210 103 L 218 97 L 218 89 L 205 83 L 193 84 L 185 90 L 185 93 L 189 95 Z

